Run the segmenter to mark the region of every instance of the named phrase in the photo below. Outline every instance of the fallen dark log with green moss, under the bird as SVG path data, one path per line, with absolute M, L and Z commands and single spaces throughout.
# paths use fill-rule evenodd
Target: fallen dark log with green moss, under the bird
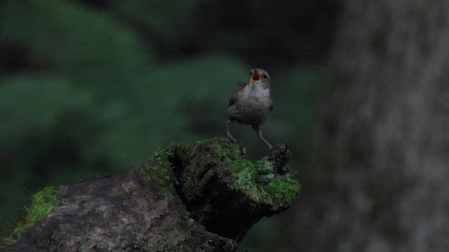
M 237 251 L 254 223 L 297 196 L 289 156 L 278 144 L 253 164 L 227 139 L 170 144 L 124 174 L 36 194 L 0 250 Z

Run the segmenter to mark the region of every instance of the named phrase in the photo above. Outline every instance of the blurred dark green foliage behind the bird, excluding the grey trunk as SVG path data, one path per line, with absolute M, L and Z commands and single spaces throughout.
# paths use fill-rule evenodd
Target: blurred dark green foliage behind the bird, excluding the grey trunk
M 123 172 L 170 141 L 224 135 L 229 97 L 253 67 L 271 67 L 274 111 L 264 136 L 288 144 L 291 167 L 300 167 L 327 50 L 298 49 L 304 24 L 293 13 L 309 11 L 302 5 L 1 1 L 0 235 L 44 186 Z M 279 12 L 257 15 L 267 8 Z M 242 15 L 252 19 L 239 22 Z M 301 57 L 314 66 L 300 65 Z M 250 127 L 232 125 L 232 132 L 250 159 L 266 153 Z M 269 243 L 255 237 L 274 224 L 258 225 L 248 249 L 250 241 Z

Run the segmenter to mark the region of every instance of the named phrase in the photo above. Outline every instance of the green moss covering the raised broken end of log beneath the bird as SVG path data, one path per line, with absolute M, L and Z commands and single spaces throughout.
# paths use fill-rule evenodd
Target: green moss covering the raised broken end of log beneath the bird
M 170 208 L 177 211 L 179 216 L 175 227 L 177 232 L 184 235 L 187 233 L 189 237 L 190 216 L 205 216 L 204 212 L 209 211 L 209 208 L 201 207 L 201 215 L 197 215 L 194 209 L 189 213 L 182 200 L 201 202 L 205 183 L 201 178 L 208 167 L 213 165 L 229 167 L 233 178 L 229 190 L 244 191 L 256 201 L 288 204 L 296 197 L 300 185 L 295 179 L 295 174 L 291 172 L 278 174 L 267 158 L 253 164 L 246 160 L 244 155 L 243 148 L 225 138 L 208 139 L 195 144 L 173 143 L 167 148 L 157 150 L 152 160 L 142 165 L 142 174 L 161 192 L 161 195 L 166 197 Z M 151 202 L 149 207 L 152 207 Z M 210 211 L 212 210 L 210 208 Z M 196 221 L 201 222 L 197 219 Z

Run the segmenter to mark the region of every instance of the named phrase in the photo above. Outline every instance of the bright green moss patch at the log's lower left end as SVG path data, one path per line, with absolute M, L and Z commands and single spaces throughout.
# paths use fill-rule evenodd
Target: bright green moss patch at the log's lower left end
M 26 232 L 34 224 L 47 216 L 59 204 L 58 195 L 65 193 L 63 190 L 55 190 L 53 186 L 48 186 L 32 196 L 32 204 L 27 209 L 27 216 L 18 223 L 11 236 L 3 239 L 4 244 L 14 244 L 23 232 Z

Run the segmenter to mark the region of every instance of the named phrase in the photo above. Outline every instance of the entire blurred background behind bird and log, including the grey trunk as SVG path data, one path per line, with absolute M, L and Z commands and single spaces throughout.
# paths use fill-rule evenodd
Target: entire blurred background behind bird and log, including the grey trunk
M 302 188 L 241 251 L 445 252 L 448 45 L 446 0 L 1 1 L 0 235 L 44 186 L 224 137 L 258 67 Z

